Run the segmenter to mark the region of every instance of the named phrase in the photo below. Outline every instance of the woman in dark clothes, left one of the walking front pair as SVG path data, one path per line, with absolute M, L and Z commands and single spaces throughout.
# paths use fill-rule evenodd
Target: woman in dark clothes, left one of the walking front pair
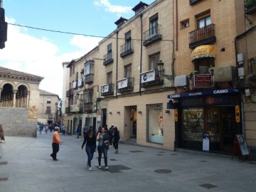
M 86 145 L 85 145 L 86 143 Z M 93 134 L 92 129 L 89 129 L 85 134 L 84 142 L 82 143 L 82 149 L 85 146 L 85 152 L 87 154 L 87 166 L 90 171 L 92 171 L 91 161 L 93 159 L 93 154 L 96 151 L 96 136 Z

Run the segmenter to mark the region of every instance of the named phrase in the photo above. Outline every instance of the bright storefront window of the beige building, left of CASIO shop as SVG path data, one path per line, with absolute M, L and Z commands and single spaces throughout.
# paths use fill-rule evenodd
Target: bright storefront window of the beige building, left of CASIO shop
M 148 141 L 164 143 L 163 105 L 147 105 Z

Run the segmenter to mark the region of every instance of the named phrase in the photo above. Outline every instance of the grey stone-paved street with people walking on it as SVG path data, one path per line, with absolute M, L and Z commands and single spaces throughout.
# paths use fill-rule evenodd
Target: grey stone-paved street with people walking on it
M 109 171 L 96 167 L 97 153 L 89 171 L 82 138 L 60 137 L 59 161 L 50 157 L 52 133 L 6 137 L 0 191 L 255 191 L 255 161 L 119 144 L 119 154 L 108 151 Z

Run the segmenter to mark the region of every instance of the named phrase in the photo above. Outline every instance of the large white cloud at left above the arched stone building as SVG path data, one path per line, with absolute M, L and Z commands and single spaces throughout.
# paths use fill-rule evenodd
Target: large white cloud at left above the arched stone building
M 15 23 L 15 20 L 6 17 L 6 22 Z M 40 89 L 58 94 L 59 97 L 62 97 L 63 93 L 62 63 L 80 58 L 97 46 L 101 40 L 101 38 L 73 36 L 70 47 L 76 46 L 80 50 L 58 55 L 58 46 L 48 41 L 46 37 L 31 36 L 26 28 L 9 25 L 7 38 L 6 47 L 0 50 L 0 65 L 43 77 Z

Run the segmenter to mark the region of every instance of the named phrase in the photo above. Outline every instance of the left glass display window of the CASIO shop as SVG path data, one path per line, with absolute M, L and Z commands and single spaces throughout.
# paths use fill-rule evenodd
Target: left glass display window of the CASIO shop
M 183 110 L 183 139 L 201 141 L 203 134 L 203 108 Z

